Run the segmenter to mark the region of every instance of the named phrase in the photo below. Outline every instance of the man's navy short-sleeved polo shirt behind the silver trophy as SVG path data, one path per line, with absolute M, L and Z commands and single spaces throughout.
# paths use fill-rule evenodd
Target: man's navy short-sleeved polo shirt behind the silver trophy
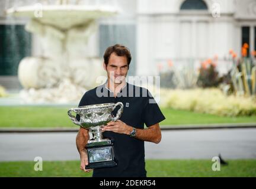
M 116 97 L 105 84 L 89 90 L 82 97 L 79 106 L 117 102 L 124 105 L 119 119 L 137 129 L 144 129 L 144 124 L 149 127 L 165 119 L 151 93 L 129 83 L 126 83 Z M 114 110 L 114 116 L 118 109 L 119 106 Z M 144 141 L 111 131 L 105 131 L 103 136 L 114 139 L 114 156 L 118 165 L 94 169 L 93 177 L 146 177 Z

